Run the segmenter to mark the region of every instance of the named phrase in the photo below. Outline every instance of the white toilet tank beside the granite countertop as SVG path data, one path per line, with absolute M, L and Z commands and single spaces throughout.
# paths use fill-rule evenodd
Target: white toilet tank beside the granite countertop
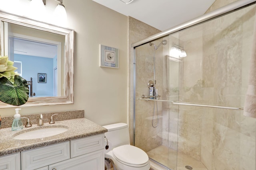
M 108 138 L 113 148 L 121 145 L 130 145 L 129 128 L 126 123 L 115 123 L 103 127 L 108 129 L 105 136 Z

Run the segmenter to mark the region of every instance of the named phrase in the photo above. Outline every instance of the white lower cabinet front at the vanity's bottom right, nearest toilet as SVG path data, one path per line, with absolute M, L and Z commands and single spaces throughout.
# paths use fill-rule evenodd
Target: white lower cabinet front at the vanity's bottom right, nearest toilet
M 104 170 L 104 149 L 52 164 L 49 170 Z

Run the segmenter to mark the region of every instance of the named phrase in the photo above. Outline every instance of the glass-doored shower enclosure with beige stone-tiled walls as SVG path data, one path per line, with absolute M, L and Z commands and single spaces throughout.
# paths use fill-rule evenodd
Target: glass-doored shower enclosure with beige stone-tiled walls
M 133 45 L 134 145 L 165 169 L 256 170 L 242 111 L 256 4 L 238 8 Z

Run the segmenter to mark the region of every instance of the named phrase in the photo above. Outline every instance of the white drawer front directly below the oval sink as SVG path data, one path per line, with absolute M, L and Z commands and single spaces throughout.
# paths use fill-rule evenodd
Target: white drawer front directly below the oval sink
M 22 170 L 34 170 L 70 158 L 70 142 L 21 152 Z

